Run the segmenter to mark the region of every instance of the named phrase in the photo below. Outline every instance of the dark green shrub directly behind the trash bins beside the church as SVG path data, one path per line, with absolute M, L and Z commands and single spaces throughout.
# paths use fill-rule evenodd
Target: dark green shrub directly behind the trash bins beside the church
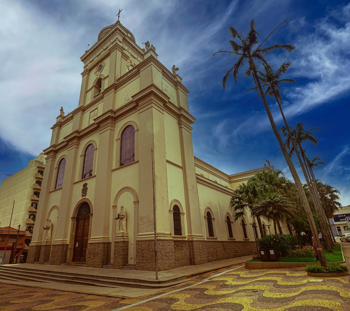
M 276 248 L 281 256 L 287 256 L 288 252 L 295 249 L 298 239 L 293 234 L 264 235 L 257 240 L 260 247 Z

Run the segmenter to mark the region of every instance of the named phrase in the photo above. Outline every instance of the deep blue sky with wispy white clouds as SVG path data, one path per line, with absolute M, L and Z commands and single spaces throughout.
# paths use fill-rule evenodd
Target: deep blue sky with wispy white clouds
M 116 21 L 119 8 L 121 23 L 140 46 L 149 40 L 168 69 L 180 68 L 197 119 L 197 157 L 228 174 L 261 168 L 267 158 L 291 177 L 261 100 L 246 92 L 252 82 L 245 69 L 237 84 L 230 78 L 223 90 L 221 79 L 235 58 L 212 57 L 230 49 L 229 26 L 245 34 L 254 19 L 264 38 L 289 17 L 267 42 L 296 45 L 293 52 L 268 57 L 275 68 L 292 62 L 286 77 L 297 84 L 283 87 L 283 108 L 294 127 L 302 122 L 320 129 L 318 146 L 305 144 L 307 155 L 327 163 L 316 177 L 341 191 L 343 205 L 350 204 L 348 1 L 1 1 L 0 180 L 49 146 L 61 106 L 66 113 L 77 107 L 80 56 Z M 269 105 L 282 126 L 273 99 Z

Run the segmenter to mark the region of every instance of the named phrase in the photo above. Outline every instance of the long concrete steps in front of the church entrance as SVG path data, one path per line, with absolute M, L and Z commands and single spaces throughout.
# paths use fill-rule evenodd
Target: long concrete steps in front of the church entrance
M 6 280 L 22 280 L 22 281 L 36 281 L 36 282 L 58 282 L 58 283 L 70 283 L 70 284 L 83 284 L 93 285 L 100 287 L 135 287 L 135 288 L 165 288 L 174 285 L 178 285 L 188 280 L 186 278 L 182 280 L 166 282 L 166 283 L 147 283 L 147 282 L 134 282 L 135 280 L 109 280 L 102 276 L 90 276 L 90 275 L 71 275 L 70 273 L 58 274 L 52 273 L 52 271 L 31 270 L 23 271 L 26 269 L 16 269 L 13 267 L 0 267 L 0 276 Z

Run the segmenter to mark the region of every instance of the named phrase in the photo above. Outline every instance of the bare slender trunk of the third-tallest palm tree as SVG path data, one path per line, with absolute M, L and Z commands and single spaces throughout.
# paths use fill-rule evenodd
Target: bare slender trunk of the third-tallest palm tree
M 327 252 L 332 252 L 332 240 L 331 240 L 331 236 L 327 227 L 327 224 L 325 222 L 325 214 L 324 214 L 324 210 L 321 204 L 321 200 L 320 200 L 320 195 L 318 194 L 317 188 L 315 183 L 313 183 L 312 181 L 312 177 L 311 174 L 309 172 L 309 165 L 307 164 L 307 160 L 306 160 L 306 155 L 304 153 L 304 150 L 301 147 L 301 144 L 299 145 L 299 150 L 301 151 L 301 156 L 303 158 L 303 165 L 305 166 L 306 172 L 307 172 L 307 176 L 305 176 L 306 182 L 309 186 L 310 189 L 310 193 L 311 193 L 311 197 L 313 199 L 314 205 L 315 205 L 315 209 L 316 209 L 316 213 L 318 216 L 318 219 L 320 220 L 320 228 L 321 228 L 321 232 L 322 232 L 322 236 L 324 237 L 324 242 L 327 248 Z

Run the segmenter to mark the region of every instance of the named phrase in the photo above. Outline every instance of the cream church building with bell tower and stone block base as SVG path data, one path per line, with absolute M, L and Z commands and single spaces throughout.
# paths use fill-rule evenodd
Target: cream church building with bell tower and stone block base
M 229 200 L 269 168 L 227 175 L 195 157 L 189 91 L 157 56 L 119 21 L 82 56 L 78 107 L 61 108 L 44 150 L 28 263 L 154 270 L 154 204 L 159 270 L 256 250 Z

